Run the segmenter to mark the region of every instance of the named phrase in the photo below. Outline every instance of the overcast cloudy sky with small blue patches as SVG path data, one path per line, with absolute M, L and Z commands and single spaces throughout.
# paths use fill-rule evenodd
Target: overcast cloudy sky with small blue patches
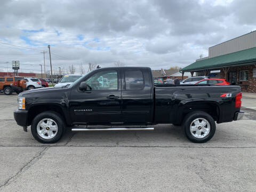
M 255 8 L 255 0 L 1 0 L 0 71 L 19 60 L 20 71 L 39 73 L 48 44 L 54 71 L 115 61 L 182 68 L 207 57 L 209 46 L 256 30 Z

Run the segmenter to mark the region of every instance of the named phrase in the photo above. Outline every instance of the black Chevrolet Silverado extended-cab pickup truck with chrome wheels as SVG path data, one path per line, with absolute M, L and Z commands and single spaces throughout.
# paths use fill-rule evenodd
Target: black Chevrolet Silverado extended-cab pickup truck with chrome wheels
M 72 125 L 155 124 L 182 125 L 189 140 L 206 142 L 215 122 L 243 118 L 241 99 L 239 86 L 155 86 L 148 67 L 100 68 L 69 86 L 20 93 L 14 118 L 42 143 L 57 142 Z

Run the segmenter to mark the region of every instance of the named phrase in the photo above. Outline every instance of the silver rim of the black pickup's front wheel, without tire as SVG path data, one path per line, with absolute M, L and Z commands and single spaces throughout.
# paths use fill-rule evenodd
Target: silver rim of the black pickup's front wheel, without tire
M 52 139 L 58 132 L 58 125 L 51 118 L 44 118 L 37 124 L 37 133 L 44 139 Z

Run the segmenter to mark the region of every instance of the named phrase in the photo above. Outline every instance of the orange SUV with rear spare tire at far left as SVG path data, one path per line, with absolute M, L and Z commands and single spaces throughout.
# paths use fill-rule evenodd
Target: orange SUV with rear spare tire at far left
M 0 91 L 10 95 L 13 91 L 17 94 L 21 93 L 26 88 L 26 81 L 23 77 L 0 77 Z

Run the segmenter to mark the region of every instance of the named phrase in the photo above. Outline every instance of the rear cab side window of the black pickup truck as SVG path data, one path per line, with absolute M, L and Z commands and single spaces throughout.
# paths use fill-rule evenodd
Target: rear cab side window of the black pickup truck
M 140 70 L 126 70 L 124 72 L 125 89 L 141 90 L 144 87 L 143 75 Z

